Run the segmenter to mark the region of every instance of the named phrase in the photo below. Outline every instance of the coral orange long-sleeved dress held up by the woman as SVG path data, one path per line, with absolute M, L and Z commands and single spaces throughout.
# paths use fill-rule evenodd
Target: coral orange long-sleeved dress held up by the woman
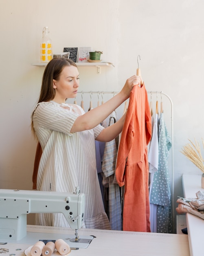
M 151 139 L 151 114 L 145 84 L 135 85 L 118 148 L 116 179 L 125 185 L 123 230 L 150 232 L 149 165 L 147 144 Z

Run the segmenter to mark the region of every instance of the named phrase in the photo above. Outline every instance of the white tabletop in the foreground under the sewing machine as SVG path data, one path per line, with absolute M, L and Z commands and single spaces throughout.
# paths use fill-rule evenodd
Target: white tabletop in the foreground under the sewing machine
M 27 232 L 44 233 L 44 239 L 47 239 L 47 233 L 52 233 L 56 240 L 62 237 L 61 234 L 68 236 L 68 234 L 75 233 L 74 230 L 68 228 L 34 225 L 28 225 Z M 72 250 L 70 256 L 190 256 L 188 236 L 185 235 L 79 229 L 79 237 L 80 235 L 94 235 L 96 238 L 92 240 L 88 248 Z M 9 249 L 9 253 L 4 254 L 4 256 L 11 254 L 23 256 L 24 250 L 36 242 L 33 241 L 30 244 L 7 243 L 7 245 L 0 245 L 0 247 Z M 16 251 L 16 249 L 21 250 Z

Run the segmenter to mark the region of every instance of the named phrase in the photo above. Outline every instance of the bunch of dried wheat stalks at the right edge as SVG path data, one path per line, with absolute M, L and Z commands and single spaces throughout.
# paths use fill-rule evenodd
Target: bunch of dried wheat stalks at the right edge
M 191 144 L 183 146 L 181 153 L 184 154 L 197 168 L 204 173 L 204 159 L 201 154 L 200 144 L 195 139 L 195 144 L 189 139 Z M 202 139 L 204 147 L 204 140 Z

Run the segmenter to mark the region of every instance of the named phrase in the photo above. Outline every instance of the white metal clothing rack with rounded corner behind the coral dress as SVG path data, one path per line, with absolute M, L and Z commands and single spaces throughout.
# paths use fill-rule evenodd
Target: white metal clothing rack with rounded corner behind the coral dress
M 78 91 L 78 93 L 81 93 L 81 96 L 82 94 L 98 94 L 99 95 L 103 95 L 103 94 L 117 94 L 119 92 L 115 92 L 115 91 L 112 91 L 112 92 L 108 92 L 108 91 Z M 164 92 L 162 91 L 148 91 L 147 94 L 156 94 L 156 96 L 158 96 L 158 94 L 161 95 L 161 99 L 162 99 L 162 95 L 164 95 L 170 102 L 171 104 L 171 205 L 172 205 L 172 215 L 173 215 L 173 231 L 175 229 L 175 210 L 174 210 L 174 159 L 173 159 L 173 102 L 171 100 L 171 98 L 165 94 Z

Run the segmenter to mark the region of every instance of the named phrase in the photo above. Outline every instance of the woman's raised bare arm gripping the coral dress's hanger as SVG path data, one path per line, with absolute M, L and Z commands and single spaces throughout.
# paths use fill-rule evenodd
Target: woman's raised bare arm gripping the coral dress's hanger
M 105 120 L 116 108 L 118 108 L 126 99 L 129 98 L 129 94 L 134 85 L 140 84 L 139 76 L 131 76 L 125 82 L 121 92 L 112 97 L 109 101 L 103 103 L 101 106 L 94 108 L 84 115 L 77 117 L 70 132 L 80 132 L 83 130 L 90 130 Z M 118 120 L 119 121 L 119 120 Z M 118 122 L 117 122 L 118 123 Z M 117 127 L 117 126 L 116 126 Z M 112 131 L 113 128 L 110 128 Z M 117 130 L 119 131 L 121 126 Z M 117 133 L 117 132 L 116 132 Z M 118 132 L 119 134 L 120 132 Z M 117 136 L 117 135 L 116 135 Z M 99 136 L 98 136 L 99 137 Z M 111 140 L 111 139 L 110 139 Z

